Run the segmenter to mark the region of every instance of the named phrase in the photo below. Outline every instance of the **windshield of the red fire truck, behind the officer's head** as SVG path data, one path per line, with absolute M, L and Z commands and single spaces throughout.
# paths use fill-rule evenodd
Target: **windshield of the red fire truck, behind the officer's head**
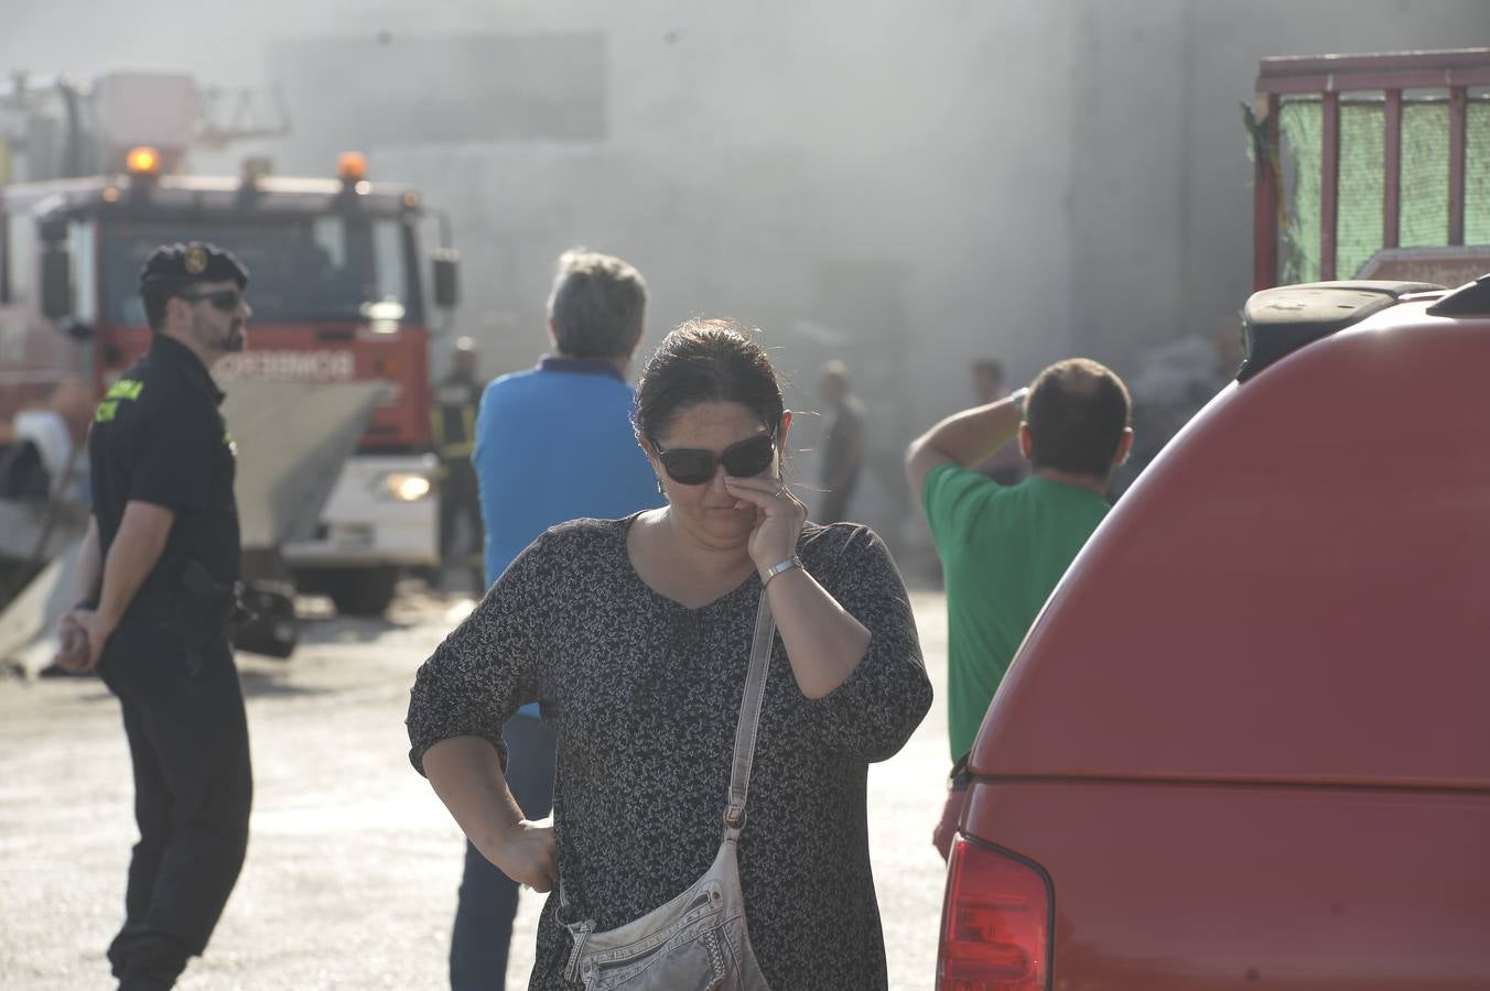
M 106 320 L 143 324 L 139 278 L 159 244 L 213 241 L 249 269 L 253 323 L 420 323 L 410 232 L 393 217 L 118 219 L 103 229 Z

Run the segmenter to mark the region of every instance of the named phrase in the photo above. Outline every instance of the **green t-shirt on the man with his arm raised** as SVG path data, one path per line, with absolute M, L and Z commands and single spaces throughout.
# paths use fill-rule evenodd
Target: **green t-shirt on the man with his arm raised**
M 1003 487 L 955 464 L 927 475 L 921 504 L 946 580 L 948 737 L 973 748 L 1009 662 L 1097 524 L 1107 500 L 1028 478 Z

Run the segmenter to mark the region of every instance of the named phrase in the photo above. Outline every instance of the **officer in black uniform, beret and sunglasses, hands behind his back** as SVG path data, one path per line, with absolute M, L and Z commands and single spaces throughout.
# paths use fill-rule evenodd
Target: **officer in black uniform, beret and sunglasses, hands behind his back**
M 207 373 L 243 348 L 247 281 L 212 244 L 150 254 L 140 272 L 150 348 L 104 393 L 88 442 L 82 601 L 63 619 L 63 643 L 77 649 L 58 664 L 97 667 L 124 708 L 140 842 L 109 946 L 121 991 L 174 985 L 247 848 L 249 735 L 228 640 L 234 446 Z

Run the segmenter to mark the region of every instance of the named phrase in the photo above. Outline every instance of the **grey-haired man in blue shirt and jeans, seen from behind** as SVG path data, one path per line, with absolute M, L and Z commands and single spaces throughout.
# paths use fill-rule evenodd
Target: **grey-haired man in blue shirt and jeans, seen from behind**
M 486 387 L 475 467 L 486 524 L 486 582 L 548 527 L 617 519 L 662 504 L 657 476 L 632 432 L 626 369 L 642 338 L 647 283 L 618 257 L 574 248 L 559 257 L 548 296 L 554 351 L 538 368 Z M 536 820 L 553 806 L 554 741 L 527 705 L 502 732 L 507 783 Z M 450 940 L 453 991 L 505 987 L 517 884 L 466 844 Z

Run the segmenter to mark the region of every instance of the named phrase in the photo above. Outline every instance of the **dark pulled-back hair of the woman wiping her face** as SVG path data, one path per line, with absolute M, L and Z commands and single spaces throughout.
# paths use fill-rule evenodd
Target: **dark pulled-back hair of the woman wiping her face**
M 684 409 L 720 402 L 741 403 L 776 430 L 781 384 L 755 333 L 738 320 L 688 320 L 669 332 L 636 384 L 636 434 L 656 442 Z

